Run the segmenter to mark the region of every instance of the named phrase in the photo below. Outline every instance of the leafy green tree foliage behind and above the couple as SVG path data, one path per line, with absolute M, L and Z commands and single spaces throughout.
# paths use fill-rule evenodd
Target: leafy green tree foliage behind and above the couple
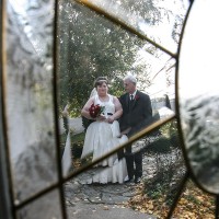
M 154 2 L 137 0 L 123 4 L 127 12 L 141 16 L 148 25 L 154 25 L 162 22 L 163 14 L 170 16 L 172 13 L 158 8 Z M 108 78 L 110 92 L 116 96 L 124 92 L 123 77 L 127 72 L 138 77 L 140 89 L 151 85 L 151 64 L 136 64 L 136 60 L 142 48 L 154 58 L 159 58 L 159 49 L 118 24 L 76 2 L 60 1 L 58 32 L 60 111 L 69 104 L 71 116 L 78 116 L 100 76 Z M 172 35 L 177 41 L 176 26 Z

